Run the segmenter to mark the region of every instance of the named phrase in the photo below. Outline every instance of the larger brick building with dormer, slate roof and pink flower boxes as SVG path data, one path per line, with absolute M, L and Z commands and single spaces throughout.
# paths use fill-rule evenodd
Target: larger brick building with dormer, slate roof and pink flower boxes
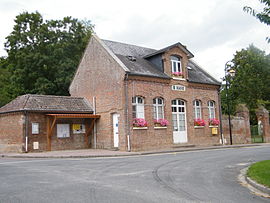
M 220 83 L 192 58 L 181 43 L 154 50 L 93 36 L 70 94 L 86 98 L 101 116 L 94 147 L 138 151 L 218 144 L 213 125 L 220 114 Z

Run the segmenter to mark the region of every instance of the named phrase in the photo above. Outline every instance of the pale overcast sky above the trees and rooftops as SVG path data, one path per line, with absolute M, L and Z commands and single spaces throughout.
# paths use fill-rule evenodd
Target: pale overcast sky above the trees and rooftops
M 243 12 L 261 8 L 258 0 L 0 0 L 0 55 L 15 16 L 23 11 L 44 19 L 72 16 L 91 20 L 102 39 L 155 49 L 181 42 L 194 60 L 216 79 L 238 50 L 254 44 L 270 51 L 270 27 Z

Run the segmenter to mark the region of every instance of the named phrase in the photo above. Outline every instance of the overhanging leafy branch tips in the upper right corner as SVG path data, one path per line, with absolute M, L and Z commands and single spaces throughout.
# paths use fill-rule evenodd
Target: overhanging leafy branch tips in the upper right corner
M 265 23 L 266 25 L 270 25 L 270 0 L 259 0 L 262 4 L 264 4 L 264 8 L 262 11 L 256 11 L 255 9 L 245 6 L 243 9 L 247 13 L 250 13 L 257 19 L 259 19 L 260 22 Z M 270 43 L 270 38 L 266 38 L 268 43 Z

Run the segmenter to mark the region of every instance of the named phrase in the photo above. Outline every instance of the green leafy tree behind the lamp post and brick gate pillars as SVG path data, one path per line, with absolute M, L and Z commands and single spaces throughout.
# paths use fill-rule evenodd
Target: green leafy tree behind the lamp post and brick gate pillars
M 259 104 L 270 110 L 270 56 L 264 51 L 250 45 L 247 49 L 237 51 L 232 60 L 236 71 L 234 78 L 228 78 L 229 96 L 232 110 L 239 103 L 247 104 L 254 117 Z M 226 93 L 222 91 L 222 108 L 226 112 Z

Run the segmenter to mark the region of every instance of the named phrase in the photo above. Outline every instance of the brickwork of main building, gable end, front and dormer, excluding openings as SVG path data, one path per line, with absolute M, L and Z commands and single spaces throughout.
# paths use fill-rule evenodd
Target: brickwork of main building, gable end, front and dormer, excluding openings
M 70 86 L 72 96 L 88 99 L 96 113 L 101 115 L 97 122 L 97 148 L 113 148 L 112 115 L 120 114 L 119 149 L 132 151 L 151 150 L 173 145 L 171 102 L 181 99 L 186 102 L 187 144 L 212 145 L 219 144 L 220 135 L 213 136 L 208 125 L 208 101 L 215 102 L 215 115 L 219 118 L 219 85 L 188 82 L 188 56 L 178 47 L 173 47 L 162 54 L 164 73 L 172 75 L 170 56 L 181 57 L 184 79 L 162 79 L 129 75 L 125 77 L 125 67 L 121 61 L 97 37 L 93 37 L 85 51 L 77 73 Z M 185 86 L 185 91 L 172 90 L 172 85 Z M 144 98 L 145 119 L 147 129 L 133 129 L 132 97 Z M 156 129 L 153 122 L 153 99 L 164 99 L 164 115 L 169 121 L 167 128 Z M 202 118 L 206 121 L 203 128 L 194 128 L 193 101 L 202 102 Z M 92 145 L 93 147 L 93 145 Z

